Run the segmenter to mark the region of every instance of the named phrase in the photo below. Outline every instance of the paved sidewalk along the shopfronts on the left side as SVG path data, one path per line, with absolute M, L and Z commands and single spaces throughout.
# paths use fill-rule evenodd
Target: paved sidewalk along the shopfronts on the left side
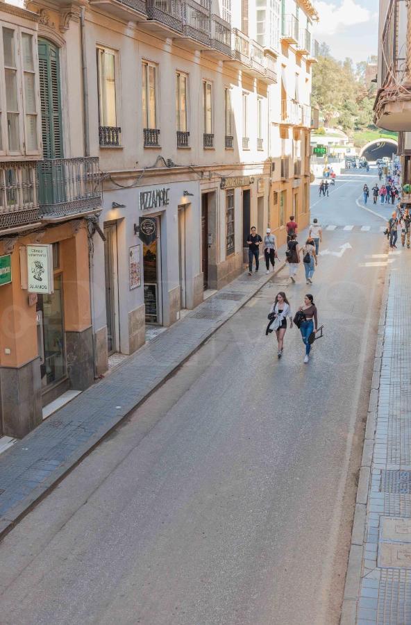
M 2 453 L 0 538 L 273 275 L 245 272 Z

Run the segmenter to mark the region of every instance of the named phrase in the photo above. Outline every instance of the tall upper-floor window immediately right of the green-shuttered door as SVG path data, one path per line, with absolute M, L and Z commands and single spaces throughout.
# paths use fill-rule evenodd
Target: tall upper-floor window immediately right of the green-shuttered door
M 116 53 L 97 48 L 99 126 L 117 128 Z

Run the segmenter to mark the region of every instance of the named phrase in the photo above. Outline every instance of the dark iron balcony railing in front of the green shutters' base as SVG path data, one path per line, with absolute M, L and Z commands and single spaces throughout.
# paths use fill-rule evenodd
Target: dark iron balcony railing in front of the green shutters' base
M 97 156 L 50 158 L 37 163 L 40 215 L 87 213 L 101 206 Z

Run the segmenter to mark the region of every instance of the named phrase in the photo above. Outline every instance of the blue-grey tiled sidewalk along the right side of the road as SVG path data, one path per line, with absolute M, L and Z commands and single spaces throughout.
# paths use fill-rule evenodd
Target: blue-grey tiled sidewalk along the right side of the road
M 342 625 L 411 624 L 411 253 L 399 252 L 379 319 Z

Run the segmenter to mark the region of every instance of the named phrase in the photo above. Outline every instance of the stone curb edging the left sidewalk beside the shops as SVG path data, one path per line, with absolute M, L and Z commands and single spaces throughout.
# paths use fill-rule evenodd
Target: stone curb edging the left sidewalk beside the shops
M 184 363 L 187 362 L 187 360 L 189 360 L 193 356 L 193 354 L 196 353 L 196 351 L 198 351 L 203 346 L 203 344 L 219 330 L 219 328 L 221 328 L 221 326 L 224 326 L 224 324 L 226 324 L 232 317 L 234 317 L 234 315 L 236 315 L 242 308 L 244 308 L 245 304 L 253 299 L 253 297 L 255 297 L 255 295 L 260 292 L 260 290 L 265 287 L 265 285 L 274 276 L 276 276 L 276 274 L 284 269 L 284 267 L 285 260 L 282 260 L 278 264 L 278 269 L 275 269 L 274 272 L 266 276 L 264 281 L 260 285 L 258 285 L 258 288 L 256 288 L 254 292 L 244 296 L 245 299 L 239 303 L 239 306 L 235 308 L 235 310 L 228 313 L 227 317 L 217 322 L 217 324 L 213 328 L 210 328 L 210 331 L 203 335 L 200 342 L 194 347 L 194 349 L 191 349 L 187 354 L 185 354 L 185 356 L 180 360 L 179 363 L 171 365 L 171 367 L 169 367 L 169 369 L 165 372 L 164 376 L 159 382 L 152 386 L 148 386 L 144 397 L 139 399 L 139 401 L 137 401 L 137 403 L 135 403 L 132 408 L 129 408 L 124 414 L 119 415 L 119 418 L 115 422 L 113 421 L 106 429 L 101 429 L 94 436 L 91 436 L 87 440 L 87 442 L 85 442 L 85 444 L 76 449 L 76 451 L 72 454 L 72 456 L 69 457 L 66 462 L 64 462 L 55 471 L 53 471 L 53 474 L 51 474 L 49 478 L 46 478 L 42 483 L 35 487 L 22 501 L 19 501 L 16 506 L 10 508 L 10 510 L 6 513 L 5 517 L 0 520 L 0 541 L 3 540 L 3 537 L 5 537 L 6 534 L 8 534 L 28 514 L 28 512 L 31 512 L 31 510 L 33 510 L 33 508 L 37 506 L 37 503 L 40 503 L 42 499 L 47 497 L 47 495 L 56 486 L 58 486 L 62 479 L 64 479 L 70 472 L 72 472 L 72 470 L 75 469 L 76 466 L 89 455 L 89 453 L 94 451 L 94 449 L 101 442 L 103 442 L 103 440 L 108 435 L 110 435 L 110 433 L 115 430 L 115 428 L 117 428 L 119 424 L 124 422 L 137 408 L 139 408 L 139 406 L 142 405 L 142 403 L 144 403 L 144 401 L 146 401 L 146 399 L 149 398 L 149 396 L 153 392 L 156 392 L 158 388 L 160 388 L 171 376 L 173 376 L 178 371 L 178 369 L 180 369 L 180 367 L 184 365 Z

